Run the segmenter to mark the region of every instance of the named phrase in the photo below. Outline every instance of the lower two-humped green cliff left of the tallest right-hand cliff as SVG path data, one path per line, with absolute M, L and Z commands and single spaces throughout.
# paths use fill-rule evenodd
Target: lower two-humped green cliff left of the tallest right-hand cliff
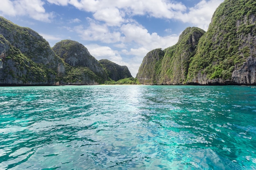
M 191 57 L 199 39 L 205 33 L 196 27 L 186 28 L 174 46 L 164 51 L 150 51 L 139 68 L 137 78 L 141 84 L 184 84 Z

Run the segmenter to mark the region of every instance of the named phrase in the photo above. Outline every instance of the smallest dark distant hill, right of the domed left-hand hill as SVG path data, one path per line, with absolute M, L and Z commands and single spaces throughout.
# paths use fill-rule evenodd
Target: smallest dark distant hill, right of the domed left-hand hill
M 119 79 L 132 77 L 127 66 L 120 66 L 107 59 L 99 60 L 99 62 L 106 68 L 108 76 L 112 80 L 118 81 Z

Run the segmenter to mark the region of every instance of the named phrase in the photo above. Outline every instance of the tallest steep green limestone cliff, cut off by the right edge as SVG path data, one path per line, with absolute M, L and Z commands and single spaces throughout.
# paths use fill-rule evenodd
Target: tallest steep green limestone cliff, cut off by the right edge
M 188 84 L 256 84 L 256 2 L 225 0 L 192 58 Z

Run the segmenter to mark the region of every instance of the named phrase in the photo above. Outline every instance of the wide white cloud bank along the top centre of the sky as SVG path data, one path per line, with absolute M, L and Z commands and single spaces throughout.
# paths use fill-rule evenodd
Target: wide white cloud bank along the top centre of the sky
M 109 26 L 120 25 L 134 15 L 148 15 L 155 18 L 174 18 L 177 12 L 186 11 L 180 2 L 169 0 L 47 0 L 57 5 L 71 4 L 79 10 L 92 12 L 94 19 Z

